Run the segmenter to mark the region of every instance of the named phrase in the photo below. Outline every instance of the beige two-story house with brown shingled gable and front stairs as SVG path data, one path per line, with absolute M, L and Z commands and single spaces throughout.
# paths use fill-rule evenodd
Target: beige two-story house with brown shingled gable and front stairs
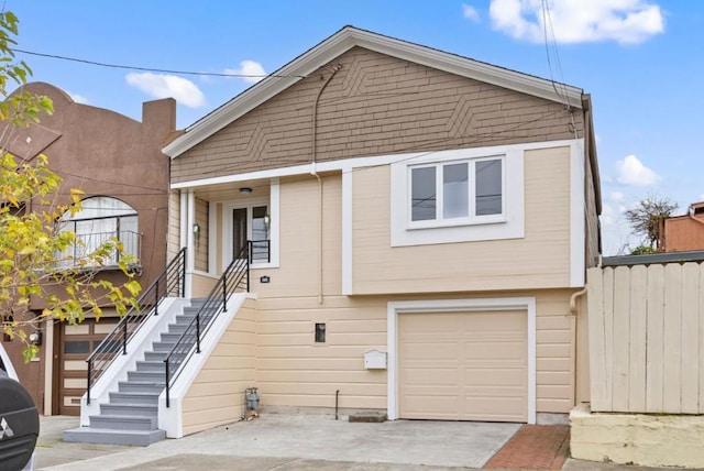
M 228 303 L 167 380 L 205 307 L 164 303 L 84 427 L 144 379 L 142 410 L 170 437 L 237 420 L 248 387 L 264 410 L 391 419 L 566 420 L 584 398 L 570 302 L 601 199 L 583 90 L 346 26 L 164 152 L 186 304 Z M 250 293 L 227 296 L 239 261 Z

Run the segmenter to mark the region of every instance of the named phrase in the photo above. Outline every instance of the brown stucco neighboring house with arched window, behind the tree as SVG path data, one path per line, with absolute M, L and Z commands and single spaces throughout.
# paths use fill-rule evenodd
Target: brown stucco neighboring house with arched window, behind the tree
M 125 251 L 140 259 L 135 280 L 148 284 L 166 264 L 168 158 L 161 147 L 175 130 L 175 101 L 145 102 L 139 122 L 75 102 L 48 84 L 33 83 L 24 89 L 51 98 L 54 112 L 41 116 L 37 124 L 4 134 L 7 149 L 25 161 L 47 155 L 50 168 L 63 178 L 58 191 L 63 201 L 58 202 L 68 202 L 70 188 L 85 193 L 82 211 L 63 223 L 85 242 L 85 249 L 118 237 Z M 123 282 L 117 265 L 107 264 L 97 276 Z M 41 308 L 41 299 L 32 305 L 36 313 Z M 76 326 L 44 324 L 40 353 L 30 363 L 21 360 L 22 342 L 3 339 L 40 412 L 79 414 L 86 391 L 85 360 L 116 322 L 114 309 L 106 306 L 99 322 L 86 318 Z

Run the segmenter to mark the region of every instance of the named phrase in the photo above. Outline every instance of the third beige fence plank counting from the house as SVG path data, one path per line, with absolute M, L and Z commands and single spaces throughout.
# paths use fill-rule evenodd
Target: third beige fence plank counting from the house
M 628 410 L 646 412 L 646 336 L 648 269 L 630 269 L 630 342 L 628 364 Z

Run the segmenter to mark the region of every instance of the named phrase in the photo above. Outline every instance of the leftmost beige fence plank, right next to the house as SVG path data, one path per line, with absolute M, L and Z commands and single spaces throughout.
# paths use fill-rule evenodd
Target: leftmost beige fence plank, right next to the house
M 600 267 L 586 272 L 590 343 L 590 402 L 592 410 L 606 410 L 606 369 L 604 336 L 604 275 Z

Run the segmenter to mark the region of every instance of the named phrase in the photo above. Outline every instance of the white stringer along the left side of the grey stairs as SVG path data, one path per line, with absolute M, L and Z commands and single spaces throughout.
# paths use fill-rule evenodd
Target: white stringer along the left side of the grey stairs
M 136 361 L 144 358 L 145 351 L 152 350 L 152 342 L 158 340 L 162 332 L 168 329 L 176 316 L 183 314 L 184 307 L 190 306 L 190 299 L 167 297 L 160 302 L 160 315 L 150 316 L 144 325 L 128 342 L 128 353 L 118 355 L 108 369 L 90 388 L 90 404 L 88 393 L 80 398 L 80 426 L 90 426 L 90 416 L 100 415 L 100 404 L 110 402 L 110 393 L 118 391 L 120 381 L 127 381 L 128 371 L 136 369 Z

